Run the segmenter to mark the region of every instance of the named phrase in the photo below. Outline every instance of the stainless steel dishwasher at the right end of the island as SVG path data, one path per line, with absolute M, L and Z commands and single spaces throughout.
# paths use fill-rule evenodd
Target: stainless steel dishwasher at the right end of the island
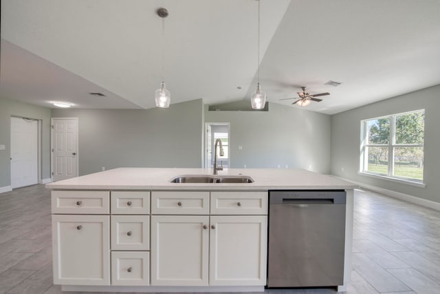
M 343 190 L 270 191 L 267 287 L 344 284 Z

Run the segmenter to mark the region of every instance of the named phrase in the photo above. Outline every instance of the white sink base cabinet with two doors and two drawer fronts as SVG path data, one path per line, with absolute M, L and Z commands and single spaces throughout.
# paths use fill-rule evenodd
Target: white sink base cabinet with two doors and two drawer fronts
M 267 192 L 151 196 L 152 285 L 265 285 Z

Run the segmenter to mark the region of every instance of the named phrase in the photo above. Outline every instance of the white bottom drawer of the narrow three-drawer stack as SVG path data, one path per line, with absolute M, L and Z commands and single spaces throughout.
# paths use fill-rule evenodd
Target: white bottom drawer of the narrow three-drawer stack
M 148 286 L 150 284 L 150 252 L 112 251 L 111 284 Z

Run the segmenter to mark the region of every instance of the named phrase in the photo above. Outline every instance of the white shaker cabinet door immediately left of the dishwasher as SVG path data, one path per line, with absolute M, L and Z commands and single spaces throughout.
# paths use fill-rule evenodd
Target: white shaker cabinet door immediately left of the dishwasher
M 210 286 L 266 284 L 267 216 L 210 216 Z

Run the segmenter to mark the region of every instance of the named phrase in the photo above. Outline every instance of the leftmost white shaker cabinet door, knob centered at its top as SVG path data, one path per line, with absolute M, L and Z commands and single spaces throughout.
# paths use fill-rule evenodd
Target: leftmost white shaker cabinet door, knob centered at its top
M 53 215 L 54 284 L 110 284 L 109 216 Z

